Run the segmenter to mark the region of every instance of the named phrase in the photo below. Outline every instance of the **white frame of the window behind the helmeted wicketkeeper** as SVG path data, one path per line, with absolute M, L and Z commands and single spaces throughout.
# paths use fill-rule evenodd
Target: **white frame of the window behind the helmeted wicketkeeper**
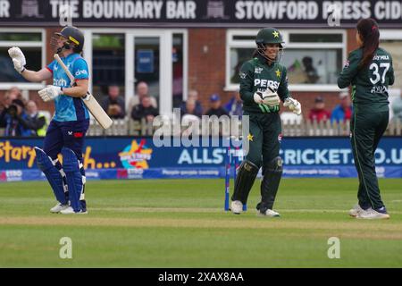
M 239 84 L 230 83 L 230 48 L 237 47 L 255 47 L 255 40 L 233 40 L 233 36 L 253 36 L 257 34 L 259 29 L 228 29 L 226 32 L 226 68 L 225 68 L 225 91 L 239 90 Z M 281 29 L 281 34 L 285 42 L 285 55 L 286 48 L 341 48 L 342 49 L 342 63 L 347 59 L 347 30 L 346 29 Z M 341 43 L 289 43 L 289 34 L 341 34 Z M 251 55 L 250 55 L 251 57 Z M 339 92 L 338 85 L 336 84 L 291 84 L 289 83 L 290 91 L 337 91 Z

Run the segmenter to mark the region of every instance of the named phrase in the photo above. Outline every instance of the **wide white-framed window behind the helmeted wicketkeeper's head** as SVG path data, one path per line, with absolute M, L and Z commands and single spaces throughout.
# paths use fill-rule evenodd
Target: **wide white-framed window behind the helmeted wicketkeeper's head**
M 239 69 L 255 51 L 258 29 L 229 29 L 227 32 L 226 89 L 239 88 Z M 292 90 L 338 90 L 337 78 L 346 58 L 345 31 L 308 32 L 281 30 L 284 55 L 281 64 L 288 70 Z

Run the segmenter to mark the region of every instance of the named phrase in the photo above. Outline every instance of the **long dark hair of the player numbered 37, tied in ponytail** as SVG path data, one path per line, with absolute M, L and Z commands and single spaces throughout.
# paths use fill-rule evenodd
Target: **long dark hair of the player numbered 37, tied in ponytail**
M 359 63 L 359 69 L 362 69 L 373 60 L 374 53 L 380 44 L 380 30 L 377 22 L 372 18 L 358 21 L 356 29 L 363 42 L 363 57 Z

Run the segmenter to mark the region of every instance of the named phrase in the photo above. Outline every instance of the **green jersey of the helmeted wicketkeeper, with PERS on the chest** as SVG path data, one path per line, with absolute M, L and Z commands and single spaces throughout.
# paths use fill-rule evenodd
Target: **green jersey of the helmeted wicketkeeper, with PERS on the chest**
M 288 89 L 287 71 L 279 63 L 268 65 L 263 56 L 257 55 L 255 58 L 243 63 L 239 71 L 240 77 L 240 97 L 243 100 L 243 110 L 250 113 L 268 114 L 277 113 L 280 105 L 268 106 L 256 104 L 254 94 L 256 91 L 264 92 L 271 86 L 285 101 L 290 97 Z

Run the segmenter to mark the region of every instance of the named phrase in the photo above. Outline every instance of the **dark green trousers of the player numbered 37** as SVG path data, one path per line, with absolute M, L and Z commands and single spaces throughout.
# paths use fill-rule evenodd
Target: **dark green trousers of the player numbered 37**
M 359 205 L 364 209 L 367 207 L 378 209 L 384 206 L 375 172 L 374 152 L 387 129 L 388 122 L 389 112 L 376 114 L 356 112 L 350 122 L 350 140 L 359 177 L 357 198 Z

